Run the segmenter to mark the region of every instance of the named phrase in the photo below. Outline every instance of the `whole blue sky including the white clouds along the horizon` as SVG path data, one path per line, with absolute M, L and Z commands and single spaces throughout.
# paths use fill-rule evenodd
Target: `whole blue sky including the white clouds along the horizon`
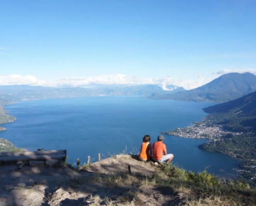
M 0 84 L 175 84 L 256 74 L 256 1 L 2 1 Z

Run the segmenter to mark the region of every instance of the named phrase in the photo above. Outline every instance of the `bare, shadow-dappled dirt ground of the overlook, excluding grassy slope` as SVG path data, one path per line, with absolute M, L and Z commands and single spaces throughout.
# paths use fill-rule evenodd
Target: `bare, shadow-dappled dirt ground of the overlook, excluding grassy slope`
M 0 206 L 178 205 L 179 196 L 170 188 L 133 185 L 132 176 L 123 182 L 111 179 L 111 175 L 128 172 L 128 165 L 132 174 L 144 177 L 157 169 L 153 163 L 130 156 L 104 159 L 80 171 L 28 165 L 19 170 L 15 163 L 0 165 Z

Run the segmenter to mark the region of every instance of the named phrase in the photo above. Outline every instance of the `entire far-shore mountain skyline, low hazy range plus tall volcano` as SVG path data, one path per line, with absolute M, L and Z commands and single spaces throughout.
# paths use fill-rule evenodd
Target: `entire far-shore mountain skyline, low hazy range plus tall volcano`
M 250 73 L 230 73 L 203 85 L 185 90 L 174 85 L 166 85 L 164 90 L 158 85 L 93 85 L 89 88 L 50 88 L 27 85 L 0 86 L 0 105 L 21 100 L 87 96 L 127 96 L 139 95 L 152 99 L 174 99 L 181 101 L 226 102 L 256 91 L 256 76 Z

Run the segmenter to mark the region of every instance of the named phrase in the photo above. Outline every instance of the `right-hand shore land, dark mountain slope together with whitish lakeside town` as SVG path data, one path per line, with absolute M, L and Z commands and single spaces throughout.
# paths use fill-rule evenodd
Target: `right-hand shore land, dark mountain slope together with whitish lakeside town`
M 204 108 L 209 113 L 191 127 L 163 134 L 182 138 L 204 138 L 200 149 L 217 151 L 242 161 L 237 181 L 256 186 L 256 92 L 219 105 Z

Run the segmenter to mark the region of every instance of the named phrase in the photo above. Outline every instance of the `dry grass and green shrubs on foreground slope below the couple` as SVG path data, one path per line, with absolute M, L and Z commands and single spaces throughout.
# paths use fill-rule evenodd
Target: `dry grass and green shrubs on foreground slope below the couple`
M 107 205 L 131 205 L 131 201 L 134 202 L 134 205 L 145 205 L 145 203 L 141 202 L 145 187 L 154 187 L 158 191 L 165 191 L 164 196 L 158 197 L 159 202 L 163 198 L 171 200 L 165 201 L 164 205 L 242 206 L 254 205 L 256 201 L 256 192 L 250 189 L 248 184 L 232 180 L 219 180 L 206 171 L 195 174 L 192 171 L 186 171 L 171 164 L 163 164 L 160 167 L 156 167 L 156 173 L 152 176 L 145 176 L 140 173 L 117 172 L 112 175 L 94 176 L 89 180 L 76 179 L 70 182 L 70 186 L 76 188 L 79 184 L 94 182 L 103 183 L 110 190 L 123 188 L 127 185 L 130 186 L 130 190 L 127 192 L 123 192 L 118 196 L 109 196 L 107 201 L 106 199 L 98 198 L 98 205 L 106 204 L 106 202 L 108 203 Z

